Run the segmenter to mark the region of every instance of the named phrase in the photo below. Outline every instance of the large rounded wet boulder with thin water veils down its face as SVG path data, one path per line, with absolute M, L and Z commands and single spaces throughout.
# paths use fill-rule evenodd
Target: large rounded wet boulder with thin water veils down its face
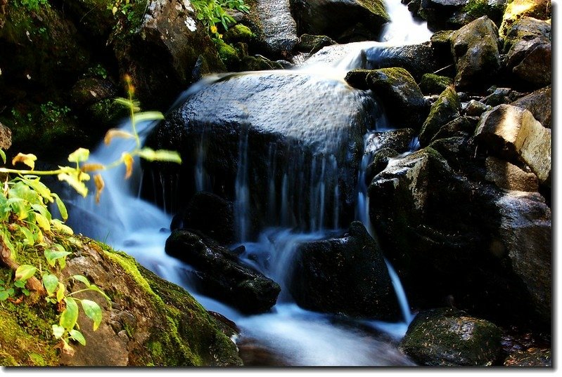
M 321 223 L 331 224 L 338 217 L 332 216 L 335 200 L 342 208 L 340 220 L 352 216 L 363 135 L 376 124 L 376 104 L 369 93 L 344 81 L 275 71 L 229 75 L 199 88 L 146 141 L 153 149 L 181 154 L 181 166 L 146 165 L 156 177 L 168 177 L 165 183 L 170 179 L 179 185 L 176 205 L 185 206 L 195 192 L 192 177 L 199 164 L 213 177 L 203 190 L 230 201 L 236 197 L 236 182 L 240 189 L 246 177 L 246 208 L 256 209 L 251 215 L 241 212 L 250 216 L 248 237 L 266 225 L 307 229 L 314 223 L 318 229 Z M 322 176 L 326 180 L 320 190 Z M 143 195 L 161 200 L 151 193 L 153 184 L 160 192 L 159 179 L 146 179 Z M 172 201 L 166 208 L 171 206 Z

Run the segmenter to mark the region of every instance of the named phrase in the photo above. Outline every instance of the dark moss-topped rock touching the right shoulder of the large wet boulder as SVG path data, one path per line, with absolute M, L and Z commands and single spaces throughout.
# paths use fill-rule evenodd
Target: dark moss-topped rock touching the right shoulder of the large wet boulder
M 367 75 L 366 81 L 385 108 L 392 125 L 416 129 L 421 126 L 428 113 L 426 100 L 407 70 L 373 70 Z

